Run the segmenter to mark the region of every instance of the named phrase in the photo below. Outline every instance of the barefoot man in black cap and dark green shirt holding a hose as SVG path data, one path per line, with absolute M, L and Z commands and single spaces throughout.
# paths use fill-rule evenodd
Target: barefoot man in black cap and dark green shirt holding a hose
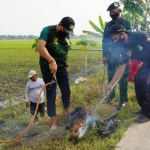
M 61 97 L 66 114 L 69 114 L 70 86 L 67 54 L 69 50 L 69 34 L 74 35 L 75 22 L 71 17 L 64 17 L 57 25 L 43 28 L 37 50 L 40 54 L 40 68 L 43 80 L 51 82 L 54 77 L 61 90 Z M 57 129 L 56 122 L 56 84 L 46 87 L 47 111 L 51 119 L 51 129 Z

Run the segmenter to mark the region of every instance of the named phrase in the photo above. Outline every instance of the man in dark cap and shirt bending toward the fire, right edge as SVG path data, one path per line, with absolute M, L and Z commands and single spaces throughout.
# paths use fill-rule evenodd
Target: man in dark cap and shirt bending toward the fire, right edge
M 150 33 L 149 32 L 128 32 L 121 25 L 111 27 L 109 33 L 112 40 L 121 49 L 120 65 L 113 79 L 109 82 L 107 90 L 121 78 L 127 67 L 129 58 L 142 62 L 142 66 L 134 77 L 135 93 L 141 110 L 140 114 L 134 121 L 138 123 L 150 120 Z

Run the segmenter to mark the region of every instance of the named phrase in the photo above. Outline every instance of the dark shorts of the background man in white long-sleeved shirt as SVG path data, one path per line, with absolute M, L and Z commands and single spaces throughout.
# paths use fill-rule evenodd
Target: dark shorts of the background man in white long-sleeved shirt
M 30 102 L 30 113 L 32 115 L 34 115 L 34 113 L 35 113 L 36 105 L 37 105 L 37 103 Z M 40 103 L 38 110 L 37 110 L 37 114 L 40 113 L 41 117 L 44 116 L 44 107 L 45 107 L 45 103 L 44 102 Z

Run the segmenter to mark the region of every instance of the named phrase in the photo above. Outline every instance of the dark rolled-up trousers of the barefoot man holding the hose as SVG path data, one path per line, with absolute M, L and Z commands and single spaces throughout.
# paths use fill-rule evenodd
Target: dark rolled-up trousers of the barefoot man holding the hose
M 54 80 L 49 68 L 41 67 L 41 72 L 45 84 Z M 61 98 L 64 108 L 70 105 L 70 86 L 66 68 L 63 71 L 56 73 L 57 83 L 61 91 Z M 56 116 L 56 83 L 46 87 L 47 111 L 48 116 Z

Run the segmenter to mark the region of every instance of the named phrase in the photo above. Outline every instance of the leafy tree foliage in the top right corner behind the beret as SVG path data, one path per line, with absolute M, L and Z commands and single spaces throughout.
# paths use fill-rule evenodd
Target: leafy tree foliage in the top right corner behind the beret
M 127 18 L 133 31 L 149 31 L 150 0 L 120 0 L 124 4 L 123 17 Z

